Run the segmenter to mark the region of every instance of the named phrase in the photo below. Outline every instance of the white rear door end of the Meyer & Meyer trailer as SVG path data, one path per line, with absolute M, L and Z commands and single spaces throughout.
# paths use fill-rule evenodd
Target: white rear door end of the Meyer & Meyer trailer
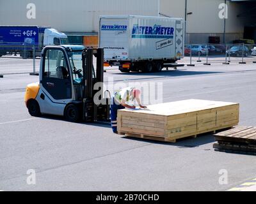
M 104 48 L 104 60 L 128 59 L 128 25 L 127 18 L 100 18 L 99 47 Z

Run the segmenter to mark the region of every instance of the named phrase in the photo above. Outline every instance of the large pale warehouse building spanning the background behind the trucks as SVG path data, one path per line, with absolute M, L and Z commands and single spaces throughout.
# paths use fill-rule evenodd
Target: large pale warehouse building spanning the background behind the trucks
M 256 41 L 255 13 L 256 2 L 249 0 L 0 1 L 0 25 L 51 26 L 84 45 L 97 45 L 100 15 L 186 18 L 186 43 L 208 43 L 209 36 L 220 37 L 220 43 Z

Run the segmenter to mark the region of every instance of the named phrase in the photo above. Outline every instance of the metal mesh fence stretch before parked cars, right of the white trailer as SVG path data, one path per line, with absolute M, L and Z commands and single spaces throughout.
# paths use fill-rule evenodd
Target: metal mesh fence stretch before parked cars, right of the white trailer
M 185 56 L 179 61 L 188 66 L 216 63 L 256 63 L 256 45 L 252 44 L 206 44 L 186 45 Z

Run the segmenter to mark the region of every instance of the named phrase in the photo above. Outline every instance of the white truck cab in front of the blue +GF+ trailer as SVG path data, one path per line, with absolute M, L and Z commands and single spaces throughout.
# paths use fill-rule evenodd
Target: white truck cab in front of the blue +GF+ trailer
M 45 29 L 44 46 L 47 45 L 68 45 L 68 37 L 56 29 Z

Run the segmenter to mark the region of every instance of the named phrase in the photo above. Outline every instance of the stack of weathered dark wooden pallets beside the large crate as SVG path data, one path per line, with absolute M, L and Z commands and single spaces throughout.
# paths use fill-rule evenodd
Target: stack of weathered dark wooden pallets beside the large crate
M 216 151 L 256 155 L 256 128 L 238 126 L 214 136 Z

